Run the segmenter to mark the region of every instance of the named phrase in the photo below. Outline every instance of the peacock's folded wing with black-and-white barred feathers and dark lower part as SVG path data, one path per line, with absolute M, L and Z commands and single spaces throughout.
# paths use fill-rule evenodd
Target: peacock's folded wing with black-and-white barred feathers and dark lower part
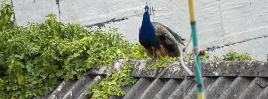
M 178 48 L 179 42 L 165 26 L 155 25 L 155 34 L 158 35 L 161 43 L 167 49 L 170 56 L 180 56 L 180 51 Z

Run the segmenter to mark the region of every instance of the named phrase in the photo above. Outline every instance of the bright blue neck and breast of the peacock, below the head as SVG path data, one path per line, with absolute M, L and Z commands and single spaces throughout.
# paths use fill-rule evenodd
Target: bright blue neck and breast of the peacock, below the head
M 153 39 L 155 37 L 154 31 L 149 12 L 144 12 L 139 37 L 141 39 Z

